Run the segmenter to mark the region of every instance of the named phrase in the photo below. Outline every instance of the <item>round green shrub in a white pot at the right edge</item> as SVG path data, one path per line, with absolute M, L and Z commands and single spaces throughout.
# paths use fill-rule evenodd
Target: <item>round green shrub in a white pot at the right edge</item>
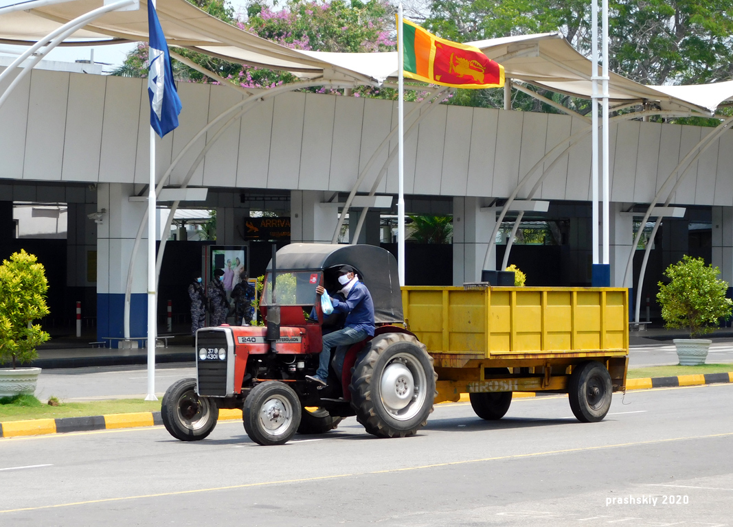
M 704 364 L 712 340 L 701 335 L 712 332 L 718 319 L 731 314 L 733 302 L 726 298 L 728 283 L 718 280 L 720 270 L 706 266 L 702 258 L 673 263 L 664 272 L 669 283 L 659 283 L 657 300 L 667 328 L 685 328 L 689 339 L 674 339 L 680 365 Z

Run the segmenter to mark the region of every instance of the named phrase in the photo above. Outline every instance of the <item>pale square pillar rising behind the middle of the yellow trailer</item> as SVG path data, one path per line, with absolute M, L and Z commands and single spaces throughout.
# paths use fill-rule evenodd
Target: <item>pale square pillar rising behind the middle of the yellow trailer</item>
M 481 280 L 484 257 L 496 225 L 496 209 L 485 209 L 484 198 L 453 198 L 453 285 Z M 496 269 L 496 250 L 487 269 Z

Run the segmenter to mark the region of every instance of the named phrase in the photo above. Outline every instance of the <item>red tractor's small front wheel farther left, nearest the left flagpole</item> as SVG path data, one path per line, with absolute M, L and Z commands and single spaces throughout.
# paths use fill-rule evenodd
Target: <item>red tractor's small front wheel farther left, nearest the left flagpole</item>
M 166 430 L 181 441 L 201 441 L 216 427 L 219 409 L 208 397 L 196 394 L 196 379 L 174 382 L 161 402 Z

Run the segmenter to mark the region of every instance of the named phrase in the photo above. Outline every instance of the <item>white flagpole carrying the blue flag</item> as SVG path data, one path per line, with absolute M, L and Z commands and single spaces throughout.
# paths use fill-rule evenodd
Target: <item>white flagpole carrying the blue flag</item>
M 155 7 L 155 0 L 150 0 Z M 150 49 L 150 44 L 148 44 Z M 148 56 L 150 60 L 150 56 Z M 162 60 L 162 59 L 159 59 Z M 155 130 L 150 127 L 150 184 L 147 193 L 147 395 L 145 400 L 155 397 L 155 333 L 157 317 L 155 310 Z

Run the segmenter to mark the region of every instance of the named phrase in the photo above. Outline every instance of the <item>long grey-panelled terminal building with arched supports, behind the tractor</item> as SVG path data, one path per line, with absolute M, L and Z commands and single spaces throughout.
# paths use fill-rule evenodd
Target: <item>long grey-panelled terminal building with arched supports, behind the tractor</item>
M 54 15 L 64 18 L 62 7 L 73 4 L 56 5 Z M 169 13 L 163 19 L 169 45 L 185 40 L 186 31 L 213 38 L 206 29 L 216 20 L 191 4 L 159 0 L 158 6 Z M 7 16 L 0 15 L 4 41 L 40 38 L 19 35 Z M 147 16 L 144 2 L 139 16 Z M 194 21 L 185 28 L 166 22 L 184 19 Z M 116 23 L 109 18 L 86 36 L 119 37 L 123 26 Z M 147 40 L 125 27 L 130 40 Z M 275 44 L 265 53 L 250 42 L 256 37 L 226 36 L 219 56 L 246 61 L 261 53 L 259 64 L 297 71 L 301 83 L 272 91 L 226 81 L 178 84 L 180 126 L 158 141 L 156 156 L 161 321 L 169 299 L 185 319 L 185 289 L 207 244 L 247 246 L 252 276 L 262 274 L 273 243 L 397 250 L 397 102 L 350 91 L 362 83 L 389 86 L 395 53 L 298 55 Z M 475 45 L 506 69 L 503 109 L 440 104 L 448 92 L 438 88 L 424 89 L 424 100 L 405 108 L 406 212 L 452 219 L 445 243 L 408 243 L 406 283 L 462 285 L 479 280 L 482 269 L 515 263 L 527 285 L 591 285 L 590 119 L 567 108 L 515 111 L 509 103 L 512 89 L 531 86 L 589 97 L 589 61 L 560 34 Z M 12 75 L 0 81 L 0 95 L 10 81 Z M 728 122 L 721 118 L 717 128 L 649 122 L 649 116 L 715 116 L 733 97 L 729 84 L 641 86 L 611 76 L 611 285 L 638 294 L 644 268 L 642 320 L 647 297 L 658 315 L 656 283 L 684 254 L 702 256 L 733 282 Z M 306 85 L 339 93 L 292 91 Z M 51 286 L 45 324 L 67 324 L 81 301 L 99 337 L 122 336 L 129 291 L 130 332 L 145 334 L 149 112 L 146 79 L 41 69 L 16 83 L 0 108 L 0 256 L 22 247 L 45 265 Z

